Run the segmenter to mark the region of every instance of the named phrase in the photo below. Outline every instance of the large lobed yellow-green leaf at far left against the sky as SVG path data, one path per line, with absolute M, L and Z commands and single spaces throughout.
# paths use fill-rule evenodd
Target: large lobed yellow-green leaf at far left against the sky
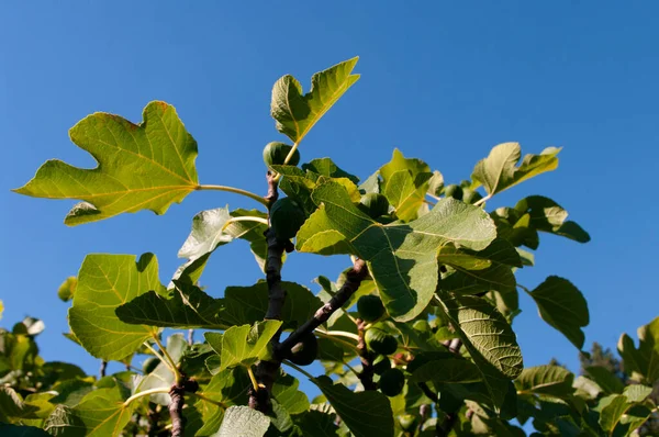
M 80 169 L 48 160 L 18 193 L 47 199 L 79 199 L 65 223 L 78 225 L 124 212 L 164 214 L 198 187 L 197 142 L 174 107 L 150 102 L 139 125 L 97 112 L 70 131 L 71 141 L 99 163 Z

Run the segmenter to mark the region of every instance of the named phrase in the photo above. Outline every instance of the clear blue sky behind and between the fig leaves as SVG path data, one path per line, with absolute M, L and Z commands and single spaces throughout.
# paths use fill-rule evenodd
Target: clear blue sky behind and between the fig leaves
M 312 4 L 313 3 L 313 4 Z M 261 149 L 283 139 L 269 116 L 272 83 L 355 55 L 361 80 L 314 127 L 302 159 L 332 156 L 366 178 L 394 147 L 449 182 L 503 142 L 523 153 L 562 146 L 557 171 L 498 195 L 488 209 L 545 194 L 592 237 L 544 234 L 537 266 L 585 294 L 587 343 L 615 347 L 659 313 L 659 3 L 655 2 L 0 2 L 0 325 L 41 317 L 48 360 L 98 361 L 65 339 L 58 284 L 88 253 L 153 251 L 166 283 L 192 215 L 248 206 L 221 192 L 192 193 L 164 216 L 145 211 L 67 227 L 75 202 L 11 193 L 48 158 L 93 167 L 67 131 L 89 113 L 141 121 L 152 100 L 174 104 L 199 143 L 202 183 L 264 192 Z M 347 259 L 293 254 L 283 276 L 316 287 Z M 242 242 L 219 249 L 202 282 L 213 295 L 260 277 Z M 526 366 L 552 357 L 578 370 L 578 352 L 521 295 L 514 328 Z

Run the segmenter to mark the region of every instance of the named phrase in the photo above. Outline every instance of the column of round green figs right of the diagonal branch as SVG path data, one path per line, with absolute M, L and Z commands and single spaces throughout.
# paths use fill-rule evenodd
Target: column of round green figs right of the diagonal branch
M 401 369 L 391 367 L 389 356 L 398 349 L 398 340 L 384 323 L 378 322 L 386 314 L 384 305 L 380 298 L 368 294 L 359 298 L 357 311 L 359 317 L 368 323 L 364 340 L 368 351 L 376 356 L 372 366 L 379 377 L 378 386 L 386 395 L 396 396 L 403 391 L 405 376 Z

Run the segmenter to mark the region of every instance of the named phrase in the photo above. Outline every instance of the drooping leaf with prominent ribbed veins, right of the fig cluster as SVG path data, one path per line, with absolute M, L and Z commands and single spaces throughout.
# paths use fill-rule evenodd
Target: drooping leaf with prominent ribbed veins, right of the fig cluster
M 515 333 L 503 315 L 483 299 L 443 296 L 442 303 L 483 376 L 493 407 L 499 408 L 510 380 L 517 378 L 523 369 Z

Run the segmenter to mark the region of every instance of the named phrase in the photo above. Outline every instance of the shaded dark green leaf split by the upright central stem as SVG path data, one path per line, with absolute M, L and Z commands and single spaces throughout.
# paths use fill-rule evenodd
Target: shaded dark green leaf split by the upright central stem
M 294 329 L 313 316 L 323 302 L 311 290 L 295 282 L 282 281 L 287 299 L 281 311 L 286 329 Z M 268 283 L 259 281 L 252 287 L 227 287 L 224 291 L 222 320 L 227 325 L 252 325 L 263 321 L 268 310 Z

